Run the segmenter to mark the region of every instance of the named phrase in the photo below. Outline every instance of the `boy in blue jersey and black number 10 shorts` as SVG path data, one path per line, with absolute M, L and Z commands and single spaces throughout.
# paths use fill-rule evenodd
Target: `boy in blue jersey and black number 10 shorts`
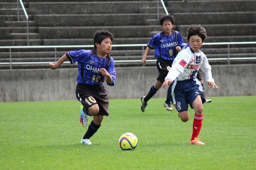
M 112 41 L 112 33 L 97 30 L 94 33 L 95 50 L 69 51 L 55 64 L 49 64 L 54 70 L 66 60 L 69 60 L 70 64 L 78 62 L 76 98 L 82 104 L 80 108 L 82 127 L 86 127 L 88 116 L 93 116 L 81 140 L 84 145 L 92 145 L 90 137 L 100 128 L 103 116 L 108 116 L 108 94 L 102 83 L 106 79 L 109 86 L 114 86 L 116 80 L 114 60 L 109 55 Z

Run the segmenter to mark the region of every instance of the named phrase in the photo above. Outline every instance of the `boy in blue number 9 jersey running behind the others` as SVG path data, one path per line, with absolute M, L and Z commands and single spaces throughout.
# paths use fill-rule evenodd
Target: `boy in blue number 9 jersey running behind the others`
M 141 96 L 140 98 L 142 103 L 140 109 L 143 112 L 148 105 L 148 100 L 150 100 L 156 94 L 157 90 L 161 88 L 164 78 L 172 66 L 174 58 L 182 48 L 182 35 L 178 31 L 172 30 L 173 24 L 173 16 L 164 15 L 160 18 L 160 25 L 162 25 L 162 29 L 164 31 L 157 33 L 152 37 L 152 39 L 148 42 L 148 47 L 143 55 L 141 63 L 142 66 L 145 66 L 148 52 L 150 49 L 154 49 L 155 47 L 154 57 L 157 58 L 156 67 L 159 72 L 158 78 L 156 79 L 154 85 L 150 88 L 148 94 L 146 96 Z M 173 110 L 168 96 L 164 102 L 164 107 L 169 111 Z

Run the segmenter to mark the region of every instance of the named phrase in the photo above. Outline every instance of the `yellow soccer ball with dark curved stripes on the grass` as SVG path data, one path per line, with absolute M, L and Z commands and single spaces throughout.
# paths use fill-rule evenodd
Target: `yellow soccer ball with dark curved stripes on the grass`
M 124 133 L 119 138 L 119 147 L 122 150 L 134 150 L 138 142 L 138 138 L 133 133 Z

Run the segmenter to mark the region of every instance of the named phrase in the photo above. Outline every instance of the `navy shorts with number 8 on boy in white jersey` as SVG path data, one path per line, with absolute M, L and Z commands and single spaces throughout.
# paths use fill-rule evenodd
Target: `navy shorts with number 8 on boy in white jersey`
M 174 80 L 168 88 L 168 97 L 178 112 L 187 111 L 188 104 L 193 109 L 193 102 L 198 95 L 201 96 L 202 103 L 205 102 L 204 93 L 199 90 L 200 82 L 195 80 Z

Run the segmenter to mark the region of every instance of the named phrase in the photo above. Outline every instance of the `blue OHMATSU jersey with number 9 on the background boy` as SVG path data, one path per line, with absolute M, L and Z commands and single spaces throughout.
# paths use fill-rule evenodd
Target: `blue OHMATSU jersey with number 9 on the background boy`
M 171 35 L 165 35 L 164 32 L 155 34 L 148 42 L 148 47 L 153 49 L 155 47 L 156 58 L 165 60 L 174 60 L 178 54 L 176 47 L 183 45 L 182 35 L 178 31 L 172 31 Z

